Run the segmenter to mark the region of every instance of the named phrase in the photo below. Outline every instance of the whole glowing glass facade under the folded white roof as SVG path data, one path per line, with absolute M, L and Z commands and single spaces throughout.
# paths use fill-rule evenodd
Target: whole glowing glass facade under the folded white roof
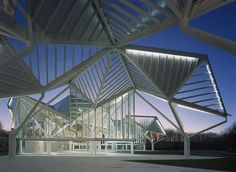
M 135 120 L 135 92 L 107 100 L 96 108 L 70 88 L 63 100 L 35 114 L 17 135 L 18 153 L 117 152 L 145 144 L 145 130 Z M 13 98 L 9 103 L 15 126 L 30 113 L 36 100 Z

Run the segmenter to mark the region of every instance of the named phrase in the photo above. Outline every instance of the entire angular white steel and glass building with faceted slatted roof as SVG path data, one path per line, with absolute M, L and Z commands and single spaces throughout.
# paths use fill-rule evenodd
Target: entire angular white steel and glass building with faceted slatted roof
M 144 138 L 161 139 L 165 132 L 158 118 L 135 113 L 135 96 L 181 133 L 189 156 L 192 136 L 176 107 L 222 117 L 199 133 L 227 121 L 207 56 L 129 43 L 179 24 L 184 33 L 236 54 L 235 43 L 188 26 L 229 2 L 0 1 L 0 98 L 15 97 L 9 101 L 15 128 L 10 156 L 32 150 L 34 144 L 39 152 L 96 152 L 104 144 L 106 150 L 132 152 Z M 58 88 L 45 102 L 48 92 Z M 53 104 L 67 90 L 69 97 Z M 165 101 L 177 125 L 142 92 Z

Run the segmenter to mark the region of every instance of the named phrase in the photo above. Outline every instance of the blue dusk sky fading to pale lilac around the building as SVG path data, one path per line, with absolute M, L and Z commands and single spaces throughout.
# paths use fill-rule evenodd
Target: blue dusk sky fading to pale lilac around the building
M 213 33 L 215 35 L 236 41 L 236 2 L 224 6 L 223 8 L 217 9 L 211 13 L 201 16 L 193 20 L 190 25 L 192 27 Z M 220 132 L 225 128 L 229 127 L 233 122 L 236 121 L 236 57 L 224 52 L 220 49 L 214 48 L 204 42 L 198 41 L 188 35 L 182 34 L 179 27 L 167 29 L 161 33 L 157 33 L 143 40 L 139 40 L 134 44 L 173 49 L 180 51 L 190 51 L 196 53 L 207 54 L 210 63 L 213 68 L 213 72 L 216 77 L 217 84 L 219 86 L 226 110 L 232 116 L 228 117 L 228 122 L 216 129 L 211 131 Z M 0 100 L 0 121 L 3 122 L 5 129 L 10 128 L 10 114 L 7 109 L 8 99 Z M 167 113 L 169 110 L 160 101 L 151 98 L 153 104 Z M 137 103 L 141 101 L 137 98 Z M 148 106 L 147 106 L 148 107 Z M 144 112 L 145 106 L 138 106 L 136 108 L 138 113 Z M 184 117 L 184 123 L 189 131 L 197 131 L 201 127 L 207 127 L 214 124 L 214 122 L 220 121 L 218 117 L 205 116 L 199 114 L 199 112 L 180 111 L 183 112 L 181 117 Z M 155 113 L 150 110 L 148 113 Z M 190 114 L 191 113 L 191 114 Z M 188 117 L 186 117 L 188 114 Z M 166 122 L 162 121 L 163 126 L 169 127 Z M 222 119 L 221 119 L 222 120 Z M 199 123 L 199 124 L 196 124 Z M 194 125 L 193 125 L 194 124 Z

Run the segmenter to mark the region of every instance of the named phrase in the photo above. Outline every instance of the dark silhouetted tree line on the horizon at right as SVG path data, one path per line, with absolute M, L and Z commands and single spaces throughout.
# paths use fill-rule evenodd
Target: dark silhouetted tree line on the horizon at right
M 156 143 L 155 149 L 183 149 L 183 137 L 174 129 L 166 130 L 165 140 Z M 190 139 L 191 149 L 236 150 L 236 122 L 221 133 L 207 132 Z M 148 147 L 149 147 L 148 143 Z

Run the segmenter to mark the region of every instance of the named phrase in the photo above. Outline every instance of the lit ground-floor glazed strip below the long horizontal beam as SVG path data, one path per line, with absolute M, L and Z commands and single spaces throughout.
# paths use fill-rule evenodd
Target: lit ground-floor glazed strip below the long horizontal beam
M 18 154 L 107 154 L 145 150 L 145 144 L 130 141 L 32 141 L 19 140 Z

